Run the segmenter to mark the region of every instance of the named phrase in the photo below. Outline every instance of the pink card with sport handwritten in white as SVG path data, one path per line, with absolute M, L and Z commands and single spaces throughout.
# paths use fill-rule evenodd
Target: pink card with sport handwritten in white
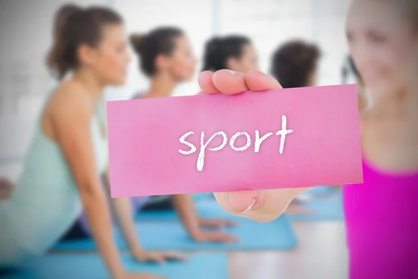
M 362 183 L 357 86 L 107 103 L 111 197 Z

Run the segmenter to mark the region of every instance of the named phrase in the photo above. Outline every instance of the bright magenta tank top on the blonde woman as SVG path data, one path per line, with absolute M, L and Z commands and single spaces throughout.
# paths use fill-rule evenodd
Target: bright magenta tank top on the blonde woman
M 418 278 L 418 171 L 363 162 L 364 184 L 343 188 L 350 279 Z

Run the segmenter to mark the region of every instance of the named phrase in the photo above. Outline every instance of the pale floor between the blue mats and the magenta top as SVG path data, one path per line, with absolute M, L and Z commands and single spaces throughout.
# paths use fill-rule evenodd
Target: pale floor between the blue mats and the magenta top
M 291 251 L 232 252 L 231 279 L 346 279 L 343 222 L 293 223 L 299 245 Z

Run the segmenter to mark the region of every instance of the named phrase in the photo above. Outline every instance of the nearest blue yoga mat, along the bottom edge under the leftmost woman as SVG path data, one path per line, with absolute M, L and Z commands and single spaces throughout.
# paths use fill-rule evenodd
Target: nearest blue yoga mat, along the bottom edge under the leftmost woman
M 125 268 L 130 271 L 168 276 L 170 279 L 229 278 L 226 253 L 193 253 L 187 262 L 165 264 L 138 263 L 130 255 L 123 255 Z M 110 278 L 98 255 L 45 255 L 33 259 L 1 276 L 3 279 L 49 278 Z

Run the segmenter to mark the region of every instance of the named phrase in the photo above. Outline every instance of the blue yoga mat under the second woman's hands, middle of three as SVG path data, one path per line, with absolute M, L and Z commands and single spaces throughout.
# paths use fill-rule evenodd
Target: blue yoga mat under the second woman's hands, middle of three
M 251 220 L 237 220 L 237 226 L 225 228 L 240 238 L 240 243 L 196 243 L 178 221 L 142 221 L 137 223 L 141 245 L 147 250 L 267 250 L 291 249 L 297 244 L 293 227 L 286 218 L 280 217 L 271 223 L 256 223 Z M 115 233 L 119 248 L 126 248 L 121 234 Z M 95 250 L 92 239 L 63 241 L 54 250 Z

